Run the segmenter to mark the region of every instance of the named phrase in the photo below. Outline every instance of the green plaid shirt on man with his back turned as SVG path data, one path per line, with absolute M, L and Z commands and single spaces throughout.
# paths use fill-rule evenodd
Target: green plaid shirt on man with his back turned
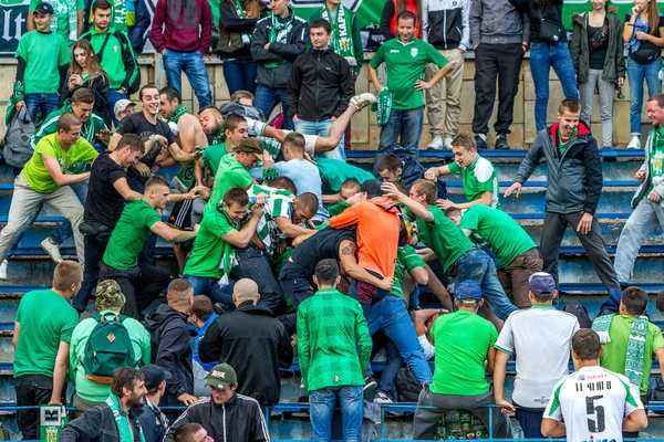
M 323 288 L 300 304 L 298 357 L 308 391 L 364 386 L 371 345 L 366 319 L 356 299 L 335 288 Z

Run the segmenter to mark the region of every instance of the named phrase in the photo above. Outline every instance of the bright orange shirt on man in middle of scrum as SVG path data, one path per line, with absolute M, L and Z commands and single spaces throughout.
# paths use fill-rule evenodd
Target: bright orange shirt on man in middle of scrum
M 356 224 L 359 264 L 384 277 L 394 276 L 398 249 L 400 222 L 396 210 L 385 211 L 394 202 L 374 198 L 360 202 L 330 219 L 330 227 L 341 229 Z

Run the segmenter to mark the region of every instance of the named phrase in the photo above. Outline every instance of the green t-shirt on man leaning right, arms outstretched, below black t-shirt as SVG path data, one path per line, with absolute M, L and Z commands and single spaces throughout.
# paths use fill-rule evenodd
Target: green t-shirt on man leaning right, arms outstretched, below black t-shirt
M 162 217 L 146 201 L 127 202 L 111 233 L 104 252 L 104 264 L 116 270 L 129 270 L 138 265 L 138 253 L 151 228 L 159 221 Z

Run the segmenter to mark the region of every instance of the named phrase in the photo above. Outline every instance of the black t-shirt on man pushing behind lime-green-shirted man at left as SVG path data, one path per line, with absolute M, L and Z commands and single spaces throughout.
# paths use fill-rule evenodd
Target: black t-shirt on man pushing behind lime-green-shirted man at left
M 126 179 L 127 173 L 108 155 L 101 154 L 92 165 L 83 220 L 113 229 L 126 203 L 113 183 L 121 178 Z

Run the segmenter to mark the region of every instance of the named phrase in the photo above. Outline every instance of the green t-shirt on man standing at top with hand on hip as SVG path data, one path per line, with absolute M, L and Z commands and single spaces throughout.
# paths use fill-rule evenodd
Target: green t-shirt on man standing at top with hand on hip
M 396 38 L 383 43 L 369 65 L 378 69 L 383 62 L 392 92 L 392 108 L 403 110 L 424 106 L 424 91 L 415 88 L 415 81 L 424 80 L 427 64 L 443 67 L 447 59 L 425 41 L 413 38 L 404 44 Z

